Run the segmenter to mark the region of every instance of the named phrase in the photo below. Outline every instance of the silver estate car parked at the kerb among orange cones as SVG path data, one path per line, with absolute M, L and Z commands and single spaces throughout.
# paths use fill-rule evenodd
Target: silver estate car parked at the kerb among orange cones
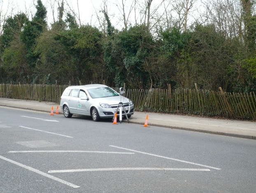
M 134 113 L 134 105 L 130 99 L 106 85 L 92 84 L 67 87 L 61 96 L 60 106 L 67 118 L 73 114 L 88 115 L 93 121 L 99 121 L 101 118 L 113 118 L 119 103 L 123 104 L 119 108 L 122 109 L 122 117 L 127 115 L 130 118 Z

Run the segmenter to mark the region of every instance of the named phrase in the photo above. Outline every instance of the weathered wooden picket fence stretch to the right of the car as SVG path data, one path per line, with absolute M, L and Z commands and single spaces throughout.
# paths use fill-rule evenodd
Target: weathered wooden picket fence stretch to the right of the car
M 222 93 L 193 89 L 128 90 L 135 110 L 256 120 L 255 93 Z

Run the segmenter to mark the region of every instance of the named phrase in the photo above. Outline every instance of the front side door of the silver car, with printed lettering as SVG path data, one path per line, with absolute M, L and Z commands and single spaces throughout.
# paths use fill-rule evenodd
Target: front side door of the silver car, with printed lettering
M 84 90 L 79 90 L 77 113 L 81 115 L 90 115 L 88 106 L 88 96 Z

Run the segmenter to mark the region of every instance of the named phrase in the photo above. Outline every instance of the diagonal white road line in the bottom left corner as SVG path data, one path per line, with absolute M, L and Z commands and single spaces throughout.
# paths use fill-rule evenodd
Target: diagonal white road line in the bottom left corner
M 44 176 L 44 177 L 48 177 L 48 178 L 50 178 L 50 179 L 53 179 L 53 180 L 55 180 L 55 181 L 57 181 L 57 182 L 61 182 L 62 184 L 65 184 L 65 185 L 67 185 L 67 186 L 71 186 L 71 187 L 73 187 L 73 188 L 79 188 L 79 187 L 80 187 L 80 186 L 77 186 L 77 185 L 72 184 L 72 183 L 70 183 L 70 182 L 67 182 L 67 181 L 65 181 L 65 180 L 63 180 L 63 179 L 59 179 L 59 178 L 54 177 L 54 176 L 52 176 L 52 175 L 49 175 L 49 174 L 47 174 L 47 173 L 41 172 L 40 170 L 37 170 L 37 169 L 35 169 L 35 168 L 31 168 L 31 167 L 29 167 L 29 166 L 27 166 L 27 165 L 24 165 L 24 164 L 22 164 L 22 163 L 18 163 L 18 162 L 16 162 L 16 161 L 11 160 L 11 159 L 5 158 L 5 157 L 3 157 L 3 156 L 0 156 L 0 159 L 5 160 L 5 161 L 8 161 L 8 162 L 10 162 L 10 163 L 13 163 L 13 164 L 15 164 L 15 165 L 18 165 L 18 166 L 20 166 L 20 167 L 22 167 L 22 168 L 25 168 L 25 169 L 30 170 L 30 171 L 32 171 L 32 172 L 35 172 L 35 173 L 37 173 L 37 174 L 40 174 L 40 175 L 42 175 L 42 176 Z

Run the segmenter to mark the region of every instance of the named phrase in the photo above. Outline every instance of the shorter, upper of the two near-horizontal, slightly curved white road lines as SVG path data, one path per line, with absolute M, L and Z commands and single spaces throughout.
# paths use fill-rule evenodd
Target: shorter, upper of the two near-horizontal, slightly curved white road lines
M 131 152 L 97 152 L 97 151 L 69 151 L 69 150 L 48 150 L 48 151 L 9 151 L 8 153 L 100 153 L 100 154 L 135 154 Z

